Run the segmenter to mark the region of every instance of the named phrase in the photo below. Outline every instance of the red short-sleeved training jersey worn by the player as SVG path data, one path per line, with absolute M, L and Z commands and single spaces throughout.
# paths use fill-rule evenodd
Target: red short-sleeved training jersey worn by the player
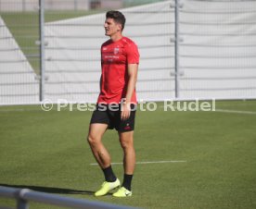
M 139 64 L 139 52 L 136 44 L 122 37 L 101 45 L 101 82 L 97 103 L 120 103 L 125 97 L 128 84 L 128 64 Z M 132 103 L 136 103 L 134 90 Z

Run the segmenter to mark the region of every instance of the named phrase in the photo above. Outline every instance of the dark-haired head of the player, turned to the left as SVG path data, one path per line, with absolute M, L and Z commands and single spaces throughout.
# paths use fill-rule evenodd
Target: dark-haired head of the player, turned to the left
M 125 25 L 125 17 L 119 11 L 109 11 L 106 13 L 104 28 L 106 35 L 111 36 L 115 32 L 122 32 Z

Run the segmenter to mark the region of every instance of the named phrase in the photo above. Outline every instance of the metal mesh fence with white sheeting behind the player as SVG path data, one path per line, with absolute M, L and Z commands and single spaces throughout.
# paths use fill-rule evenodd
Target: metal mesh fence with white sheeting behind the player
M 96 102 L 105 13 L 44 11 L 41 89 L 36 53 L 28 54 L 17 28 L 1 15 L 0 104 L 38 103 L 40 92 L 53 102 Z M 256 1 L 173 0 L 121 11 L 124 35 L 141 55 L 139 99 L 256 98 Z M 39 54 L 38 46 L 27 45 Z

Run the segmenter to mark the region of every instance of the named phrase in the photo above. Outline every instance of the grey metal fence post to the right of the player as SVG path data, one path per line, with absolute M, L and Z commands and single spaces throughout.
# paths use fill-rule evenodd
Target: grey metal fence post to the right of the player
M 179 0 L 175 0 L 175 98 L 180 97 L 180 71 L 179 71 Z

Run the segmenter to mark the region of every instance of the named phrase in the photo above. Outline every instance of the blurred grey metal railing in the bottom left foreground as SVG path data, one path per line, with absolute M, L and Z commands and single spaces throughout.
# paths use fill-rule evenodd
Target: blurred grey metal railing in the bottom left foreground
M 31 191 L 29 189 L 15 189 L 0 186 L 0 197 L 14 198 L 17 200 L 17 209 L 29 209 L 29 201 L 37 203 L 45 203 L 58 205 L 68 208 L 83 208 L 83 209 L 132 209 L 132 207 L 115 205 L 110 203 L 100 203 L 63 197 L 56 194 L 50 194 L 39 191 Z M 1 207 L 0 208 L 6 208 Z

